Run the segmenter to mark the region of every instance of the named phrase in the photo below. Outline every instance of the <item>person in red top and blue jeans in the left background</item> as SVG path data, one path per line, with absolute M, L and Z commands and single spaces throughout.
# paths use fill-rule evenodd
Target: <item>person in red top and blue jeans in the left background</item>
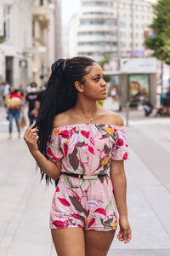
M 14 90 L 14 87 L 9 88 L 9 94 L 5 98 L 5 104 L 7 106 L 8 120 L 9 120 L 9 137 L 12 139 L 13 132 L 13 119 L 15 119 L 16 127 L 18 130 L 18 138 L 20 138 L 20 113 L 21 106 L 23 102 L 23 97 L 20 94 L 19 90 Z

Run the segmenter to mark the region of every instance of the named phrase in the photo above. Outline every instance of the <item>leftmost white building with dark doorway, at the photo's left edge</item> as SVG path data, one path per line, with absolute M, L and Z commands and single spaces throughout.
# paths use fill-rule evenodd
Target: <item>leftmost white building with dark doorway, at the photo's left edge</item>
M 31 13 L 33 1 L 0 2 L 0 82 L 19 87 L 31 80 Z

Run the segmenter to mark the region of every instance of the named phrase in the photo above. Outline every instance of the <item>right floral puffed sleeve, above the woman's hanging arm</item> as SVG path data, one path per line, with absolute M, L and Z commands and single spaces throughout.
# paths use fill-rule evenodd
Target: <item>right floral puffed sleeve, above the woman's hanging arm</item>
M 111 160 L 127 160 L 129 151 L 127 146 L 127 132 L 123 126 L 114 129 L 116 132 L 116 143 L 114 143 Z

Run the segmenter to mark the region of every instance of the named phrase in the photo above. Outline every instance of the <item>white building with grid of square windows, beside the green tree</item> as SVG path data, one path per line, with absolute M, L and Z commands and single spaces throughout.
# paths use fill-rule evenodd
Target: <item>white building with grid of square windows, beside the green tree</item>
M 118 45 L 120 56 L 144 56 L 150 54 L 144 48 L 144 32 L 153 20 L 149 1 L 117 0 L 116 10 Z

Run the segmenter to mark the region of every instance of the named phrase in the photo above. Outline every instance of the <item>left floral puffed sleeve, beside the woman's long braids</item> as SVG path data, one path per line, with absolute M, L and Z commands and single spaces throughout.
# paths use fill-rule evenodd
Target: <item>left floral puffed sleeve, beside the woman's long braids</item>
M 56 163 L 63 157 L 62 149 L 60 148 L 59 129 L 52 131 L 51 138 L 48 138 L 47 149 L 48 159 Z

